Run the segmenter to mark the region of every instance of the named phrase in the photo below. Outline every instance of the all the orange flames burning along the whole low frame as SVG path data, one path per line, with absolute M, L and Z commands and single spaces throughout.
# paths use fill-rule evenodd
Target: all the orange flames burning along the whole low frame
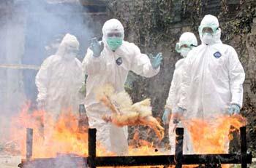
M 88 134 L 78 129 L 78 116 L 70 111 L 62 113 L 55 121 L 50 116 L 45 117 L 48 125 L 44 128 L 45 111 L 29 111 L 26 105 L 20 114 L 12 119 L 12 140 L 20 147 L 20 153 L 26 156 L 26 128 L 32 128 L 33 156 L 32 158 L 54 158 L 60 155 L 88 156 Z M 191 135 L 194 153 L 226 153 L 229 133 L 246 124 L 241 116 L 219 116 L 214 123 L 199 119 L 184 121 Z M 233 129 L 230 129 L 233 126 Z M 44 130 L 44 131 L 43 131 Z M 129 156 L 162 155 L 167 152 L 158 151 L 153 143 L 140 140 L 135 133 L 133 143 L 129 146 Z M 114 156 L 97 143 L 97 156 Z M 193 166 L 189 166 L 193 167 Z

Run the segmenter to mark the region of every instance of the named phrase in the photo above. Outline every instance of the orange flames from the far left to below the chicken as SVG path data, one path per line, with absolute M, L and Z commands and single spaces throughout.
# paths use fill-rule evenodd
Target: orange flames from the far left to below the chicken
M 70 111 L 62 113 L 58 121 L 47 116 L 43 127 L 45 111 L 29 111 L 26 105 L 18 116 L 12 119 L 11 139 L 19 145 L 20 153 L 26 156 L 26 128 L 33 129 L 32 158 L 52 158 L 62 154 L 88 156 L 88 134 L 78 129 L 78 116 Z M 153 143 L 139 140 L 140 147 L 129 146 L 129 155 L 160 155 Z M 97 156 L 114 156 L 97 142 Z

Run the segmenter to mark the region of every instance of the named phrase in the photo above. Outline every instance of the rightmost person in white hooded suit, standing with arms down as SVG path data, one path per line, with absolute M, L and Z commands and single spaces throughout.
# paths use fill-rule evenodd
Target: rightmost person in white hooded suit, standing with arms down
M 184 61 L 181 97 L 178 108 L 173 111 L 173 119 L 183 116 L 184 119 L 203 119 L 217 124 L 214 117 L 240 113 L 244 68 L 236 50 L 222 44 L 217 17 L 203 17 L 198 31 L 202 44 L 192 49 Z M 227 139 L 226 152 L 228 144 Z

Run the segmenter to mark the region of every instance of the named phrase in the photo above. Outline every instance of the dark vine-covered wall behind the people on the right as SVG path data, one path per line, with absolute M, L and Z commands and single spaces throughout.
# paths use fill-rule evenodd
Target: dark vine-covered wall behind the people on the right
M 154 116 L 162 117 L 174 65 L 181 58 L 175 52 L 179 36 L 184 31 L 192 31 L 200 43 L 197 32 L 200 20 L 206 14 L 216 15 L 222 28 L 222 41 L 236 49 L 246 72 L 242 113 L 249 123 L 250 147 L 255 148 L 252 143 L 256 139 L 255 7 L 256 2 L 251 0 L 110 1 L 111 15 L 124 24 L 126 39 L 135 42 L 142 52 L 162 52 L 164 56 L 157 76 L 143 79 L 133 73 L 130 75 L 133 82 L 130 82 L 129 92 L 133 100 L 150 97 Z

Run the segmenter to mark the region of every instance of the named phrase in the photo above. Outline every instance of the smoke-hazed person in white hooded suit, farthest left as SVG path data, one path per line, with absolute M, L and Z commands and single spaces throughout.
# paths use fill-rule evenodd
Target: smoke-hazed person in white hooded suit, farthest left
M 67 33 L 56 54 L 44 60 L 36 76 L 38 108 L 43 108 L 55 120 L 61 111 L 77 114 L 79 104 L 83 103 L 79 93 L 84 80 L 83 68 L 75 57 L 78 50 L 78 39 Z

